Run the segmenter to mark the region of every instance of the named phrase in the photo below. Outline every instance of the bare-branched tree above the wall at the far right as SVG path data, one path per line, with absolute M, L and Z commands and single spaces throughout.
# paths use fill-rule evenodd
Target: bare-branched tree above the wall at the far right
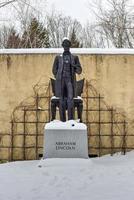
M 101 37 L 103 36 L 107 47 L 133 48 L 134 9 L 129 6 L 129 2 L 129 0 L 106 0 L 106 7 L 101 0 L 90 4 L 90 9 L 96 16 L 96 31 Z

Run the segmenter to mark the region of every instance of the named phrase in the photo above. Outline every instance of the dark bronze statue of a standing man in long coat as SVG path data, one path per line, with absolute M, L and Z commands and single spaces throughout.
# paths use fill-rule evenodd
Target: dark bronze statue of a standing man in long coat
M 82 68 L 78 56 L 70 52 L 71 42 L 64 38 L 62 42 L 64 52 L 55 57 L 53 74 L 55 76 L 55 94 L 59 97 L 60 120 L 74 119 L 74 98 L 76 97 L 76 73 L 80 74 Z

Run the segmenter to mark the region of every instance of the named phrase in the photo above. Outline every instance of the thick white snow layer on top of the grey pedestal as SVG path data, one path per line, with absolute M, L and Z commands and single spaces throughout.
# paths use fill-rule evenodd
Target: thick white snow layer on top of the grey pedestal
M 59 120 L 53 120 L 46 124 L 45 130 L 54 129 L 54 130 L 86 130 L 87 127 L 83 123 L 79 123 L 79 120 L 69 120 L 66 122 L 62 122 Z

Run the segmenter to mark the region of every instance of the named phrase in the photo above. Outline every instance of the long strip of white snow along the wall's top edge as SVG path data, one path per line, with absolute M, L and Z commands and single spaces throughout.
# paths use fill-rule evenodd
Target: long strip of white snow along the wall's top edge
M 72 48 L 74 54 L 112 54 L 125 55 L 134 54 L 134 49 L 102 49 L 102 48 Z M 62 48 L 40 48 L 40 49 L 0 49 L 0 54 L 57 54 L 62 53 Z

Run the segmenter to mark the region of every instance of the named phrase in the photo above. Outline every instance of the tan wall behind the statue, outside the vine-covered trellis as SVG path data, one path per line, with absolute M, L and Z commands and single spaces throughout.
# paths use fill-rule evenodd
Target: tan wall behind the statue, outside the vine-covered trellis
M 33 88 L 48 84 L 52 64 L 58 50 L 49 52 L 31 50 L 23 53 L 0 54 L 0 159 L 10 160 L 11 119 L 13 110 L 21 102 L 34 96 Z M 61 52 L 61 50 L 59 50 Z M 130 123 L 134 118 L 134 51 L 114 53 L 73 50 L 79 56 L 86 80 L 104 96 L 109 107 L 125 113 Z M 133 129 L 131 130 L 133 132 Z M 3 148 L 5 145 L 5 148 Z M 17 159 L 17 157 L 16 157 Z

